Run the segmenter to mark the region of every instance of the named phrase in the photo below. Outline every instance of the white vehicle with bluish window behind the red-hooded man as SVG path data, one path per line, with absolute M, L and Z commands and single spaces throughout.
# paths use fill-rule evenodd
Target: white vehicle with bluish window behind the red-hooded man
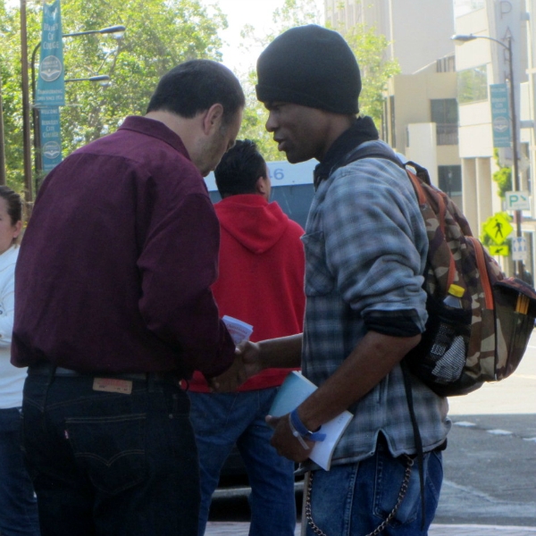
M 267 162 L 272 180 L 272 201 L 277 201 L 291 220 L 306 226 L 309 206 L 314 196 L 313 171 L 316 160 L 289 163 L 286 160 Z M 214 173 L 205 177 L 206 186 L 213 203 L 222 199 L 216 188 Z

